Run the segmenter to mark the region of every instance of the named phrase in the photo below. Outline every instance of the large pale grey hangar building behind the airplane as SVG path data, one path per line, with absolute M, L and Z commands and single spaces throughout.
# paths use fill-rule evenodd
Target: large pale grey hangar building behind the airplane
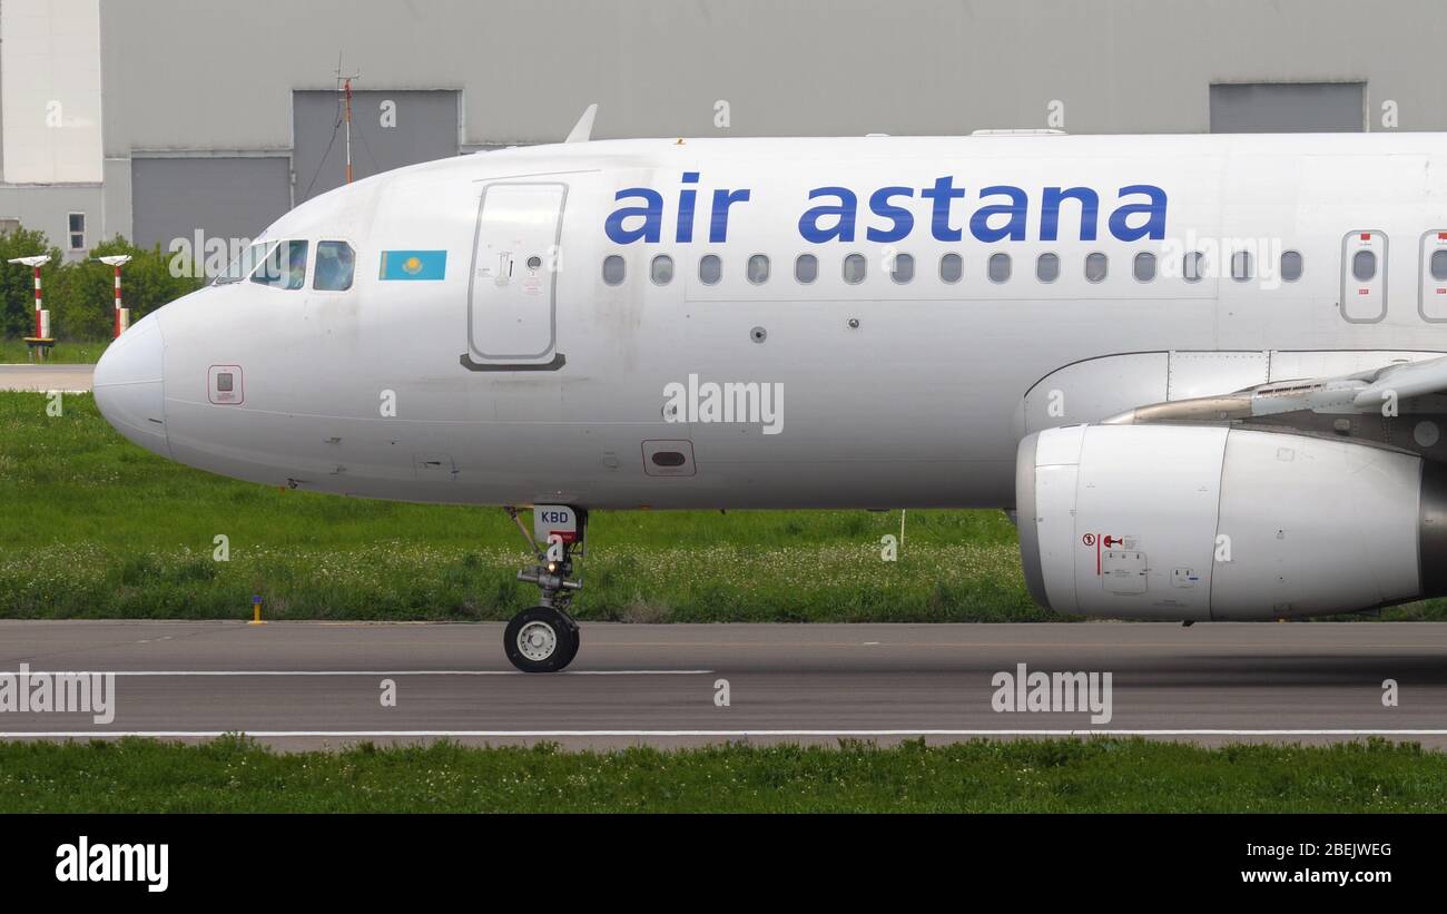
M 0 0 L 0 228 L 247 239 L 357 176 L 595 137 L 1447 130 L 1435 0 Z

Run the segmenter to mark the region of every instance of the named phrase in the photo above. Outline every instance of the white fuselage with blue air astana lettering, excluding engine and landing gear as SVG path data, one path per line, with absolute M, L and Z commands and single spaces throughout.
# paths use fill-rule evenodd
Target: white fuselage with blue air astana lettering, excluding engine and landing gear
M 962 194 L 939 194 L 945 176 Z M 1137 187 L 1162 197 L 1123 192 Z M 509 149 L 298 207 L 263 237 L 311 250 L 347 242 L 350 289 L 314 289 L 313 265 L 302 289 L 203 289 L 129 330 L 97 369 L 97 392 L 107 418 L 158 453 L 317 492 L 582 508 L 1010 506 L 1027 431 L 1447 351 L 1435 323 L 1447 294 L 1430 270 L 1447 244 L 1444 187 L 1438 134 Z M 657 194 L 655 211 L 640 188 Z M 857 198 L 852 240 L 838 217 L 806 218 L 846 204 L 810 200 L 820 188 Z M 981 207 L 1011 202 L 985 188 L 1017 188 L 1020 213 L 972 226 Z M 1081 205 L 1088 194 L 1052 207 L 1051 188 L 1088 189 L 1098 210 Z M 715 197 L 739 191 L 747 200 L 734 197 L 721 223 Z M 1120 207 L 1136 208 L 1117 221 Z M 629 208 L 642 211 L 619 215 Z M 1230 276 L 1237 243 L 1250 279 Z M 1370 279 L 1351 273 L 1363 249 L 1378 263 Z M 1214 263 L 1191 281 L 1181 259 L 1195 250 Z M 408 265 L 423 275 L 444 259 L 440 276 L 383 265 L 405 252 L 427 252 Z M 1286 252 L 1301 275 L 1273 279 Z M 993 281 L 1001 253 L 1010 276 Z M 1156 257 L 1153 279 L 1134 275 L 1142 253 Z M 751 282 L 758 255 L 768 276 Z M 796 279 L 800 255 L 818 260 L 813 282 Z M 855 283 L 849 255 L 865 262 Z M 907 281 L 900 255 L 913 262 Z M 946 255 L 962 265 L 955 282 L 942 278 Z M 1040 255 L 1058 257 L 1053 281 Z M 1091 255 L 1106 257 L 1094 282 Z M 667 283 L 653 279 L 658 256 L 673 263 Z M 715 283 L 700 279 L 706 256 L 719 257 Z M 616 285 L 608 257 L 621 257 Z M 216 402 L 216 376 L 232 367 L 240 390 Z M 776 392 L 776 421 L 666 415 L 680 389 L 670 385 L 697 405 L 710 382 Z M 670 457 L 654 463 L 657 453 Z

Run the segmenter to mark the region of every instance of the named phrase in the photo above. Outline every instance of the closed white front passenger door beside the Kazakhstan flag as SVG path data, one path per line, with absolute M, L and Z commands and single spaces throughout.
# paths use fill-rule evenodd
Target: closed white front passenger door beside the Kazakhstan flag
M 489 184 L 478 204 L 467 281 L 473 370 L 548 370 L 557 354 L 557 263 L 567 185 Z

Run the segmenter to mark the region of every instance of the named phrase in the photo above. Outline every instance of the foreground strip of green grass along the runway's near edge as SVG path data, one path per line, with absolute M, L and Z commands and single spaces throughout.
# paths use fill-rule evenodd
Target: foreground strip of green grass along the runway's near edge
M 0 813 L 1443 811 L 1447 755 L 1145 740 L 561 752 L 246 739 L 0 745 Z

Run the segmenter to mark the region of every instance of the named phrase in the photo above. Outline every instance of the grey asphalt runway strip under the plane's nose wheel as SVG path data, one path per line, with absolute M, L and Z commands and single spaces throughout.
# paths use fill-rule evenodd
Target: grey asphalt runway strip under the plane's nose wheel
M 109 725 L 9 710 L 0 738 L 245 730 L 295 749 L 441 738 L 611 748 L 1094 732 L 1447 745 L 1447 625 L 585 623 L 577 661 L 554 675 L 514 672 L 501 638 L 495 623 L 0 622 L 0 675 L 22 664 L 117 674 Z M 1110 672 L 1110 720 L 994 710 L 994 678 L 1017 664 Z M 1396 707 L 1383 706 L 1385 680 Z

